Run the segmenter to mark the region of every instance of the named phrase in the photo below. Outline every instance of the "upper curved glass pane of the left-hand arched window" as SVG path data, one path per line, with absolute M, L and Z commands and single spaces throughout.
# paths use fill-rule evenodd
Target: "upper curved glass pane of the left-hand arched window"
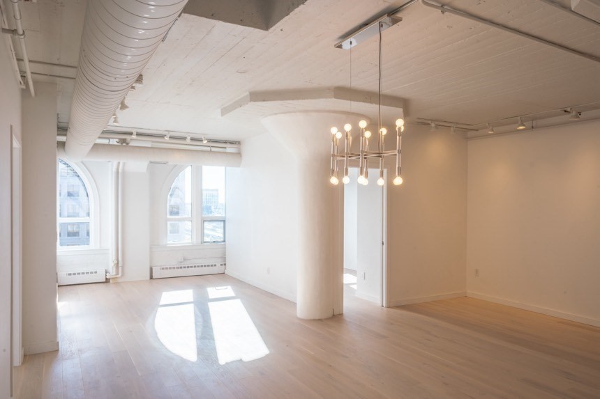
M 59 159 L 59 217 L 89 217 L 87 188 L 69 164 Z

